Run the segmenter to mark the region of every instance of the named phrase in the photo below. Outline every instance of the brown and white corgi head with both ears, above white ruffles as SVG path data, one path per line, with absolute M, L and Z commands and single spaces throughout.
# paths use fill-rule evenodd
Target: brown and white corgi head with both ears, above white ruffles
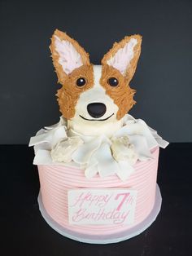
M 50 51 L 62 85 L 59 108 L 69 128 L 83 135 L 111 136 L 122 126 L 122 118 L 135 104 L 129 82 L 141 44 L 140 35 L 125 37 L 103 56 L 102 65 L 94 65 L 78 42 L 55 30 Z

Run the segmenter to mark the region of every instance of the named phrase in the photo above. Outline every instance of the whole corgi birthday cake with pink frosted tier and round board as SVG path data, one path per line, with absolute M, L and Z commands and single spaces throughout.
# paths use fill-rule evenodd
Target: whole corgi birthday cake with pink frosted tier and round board
M 41 214 L 76 241 L 123 241 L 159 214 L 159 147 L 168 142 L 128 114 L 141 44 L 140 35 L 125 37 L 94 65 L 66 33 L 56 29 L 51 38 L 62 116 L 39 130 L 29 146 L 38 167 Z

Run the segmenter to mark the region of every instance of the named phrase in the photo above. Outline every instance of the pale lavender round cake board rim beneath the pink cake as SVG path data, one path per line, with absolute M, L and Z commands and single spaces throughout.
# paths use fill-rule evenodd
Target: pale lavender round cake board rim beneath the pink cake
M 124 231 L 124 232 L 118 232 L 115 234 L 105 235 L 105 236 L 100 236 L 100 235 L 98 236 L 98 235 L 85 235 L 77 232 L 72 232 L 67 228 L 64 228 L 61 225 L 59 225 L 59 223 L 56 223 L 55 220 L 51 218 L 49 214 L 47 214 L 46 209 L 44 208 L 44 205 L 42 203 L 41 191 L 39 192 L 39 196 L 38 196 L 39 210 L 41 211 L 42 217 L 46 220 L 46 223 L 48 223 L 50 227 L 55 229 L 56 232 L 59 232 L 59 234 L 66 236 L 72 240 L 89 243 L 89 244 L 117 243 L 120 241 L 127 240 L 133 236 L 139 235 L 140 233 L 144 232 L 147 227 L 150 227 L 151 224 L 155 221 L 155 218 L 159 214 L 159 211 L 161 208 L 161 202 L 162 202 L 162 198 L 161 198 L 159 186 L 158 184 L 156 184 L 155 205 L 151 210 L 151 213 L 147 216 L 145 220 L 142 221 L 142 223 L 139 223 L 137 224 L 137 226 L 129 228 L 127 231 Z

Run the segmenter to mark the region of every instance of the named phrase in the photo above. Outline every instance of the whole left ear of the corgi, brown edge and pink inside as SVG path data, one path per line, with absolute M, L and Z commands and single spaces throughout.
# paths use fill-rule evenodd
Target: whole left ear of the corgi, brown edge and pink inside
M 51 38 L 50 51 L 61 84 L 74 69 L 90 64 L 89 54 L 67 33 L 58 29 Z

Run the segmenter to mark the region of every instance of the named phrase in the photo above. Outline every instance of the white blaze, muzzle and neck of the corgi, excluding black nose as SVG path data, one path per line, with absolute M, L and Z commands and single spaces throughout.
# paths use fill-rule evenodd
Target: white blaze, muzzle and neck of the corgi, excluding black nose
M 114 100 L 106 94 L 105 88 L 101 86 L 101 76 L 102 66 L 94 65 L 94 86 L 81 93 L 76 104 L 75 116 L 72 117 L 71 120 L 68 120 L 68 127 L 81 134 L 89 136 L 105 134 L 110 137 L 116 130 L 120 129 L 122 126 L 122 119 L 116 119 L 116 113 L 118 112 L 119 108 L 114 103 Z M 106 113 L 103 115 L 103 117 L 98 118 L 98 120 L 105 119 L 111 115 L 112 116 L 106 121 L 86 121 L 82 119 L 80 115 L 87 119 L 93 119 L 93 117 L 89 116 L 87 105 L 96 102 L 103 103 L 107 107 Z

